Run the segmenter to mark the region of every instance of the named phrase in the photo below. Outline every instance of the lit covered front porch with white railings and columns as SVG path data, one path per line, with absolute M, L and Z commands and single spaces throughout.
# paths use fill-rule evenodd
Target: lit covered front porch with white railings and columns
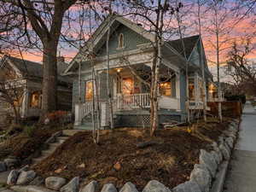
M 169 112 L 169 114 L 180 113 L 180 74 L 164 65 L 160 68 L 160 74 L 159 110 Z M 84 82 L 84 103 L 75 105 L 75 125 L 81 125 L 84 117 L 91 116 L 93 98 L 96 101 L 96 90 L 98 90 L 102 118 L 109 114 L 109 109 L 106 111 L 106 105 L 108 105 L 107 70 L 98 70 L 97 79 L 98 82 L 93 79 Z M 149 115 L 150 80 L 151 66 L 146 64 L 114 67 L 109 70 L 114 118 L 119 119 L 124 115 L 128 117 L 133 114 Z M 97 89 L 96 86 L 98 86 Z

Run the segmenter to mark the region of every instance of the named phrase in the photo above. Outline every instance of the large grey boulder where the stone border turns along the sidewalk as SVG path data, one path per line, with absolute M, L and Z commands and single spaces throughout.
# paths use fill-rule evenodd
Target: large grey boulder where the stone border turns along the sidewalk
M 197 183 L 201 191 L 210 191 L 212 177 L 208 171 L 201 168 L 194 168 L 190 174 L 190 181 L 194 181 L 195 183 Z

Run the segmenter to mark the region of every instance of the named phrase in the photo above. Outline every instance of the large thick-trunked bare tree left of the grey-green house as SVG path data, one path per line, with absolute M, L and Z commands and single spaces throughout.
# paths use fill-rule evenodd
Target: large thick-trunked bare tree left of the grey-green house
M 59 38 L 61 37 L 62 21 L 69 9 L 77 0 L 32 1 L 32 0 L 3 0 L 3 6 L 15 7 L 18 15 L 23 18 L 24 36 L 31 43 L 33 32 L 43 46 L 43 102 L 44 113 L 56 109 L 56 55 Z M 32 31 L 31 32 L 31 29 Z

